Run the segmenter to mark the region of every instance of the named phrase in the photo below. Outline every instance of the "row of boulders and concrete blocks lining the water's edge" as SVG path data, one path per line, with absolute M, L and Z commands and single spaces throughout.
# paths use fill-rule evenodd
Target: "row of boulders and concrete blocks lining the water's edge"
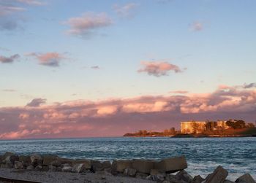
M 232 183 L 227 180 L 228 172 L 218 166 L 206 178 L 192 177 L 185 171 L 187 160 L 184 156 L 156 160 L 72 160 L 56 155 L 16 155 L 5 152 L 0 155 L 1 168 L 15 168 L 27 171 L 62 171 L 103 176 L 129 176 L 162 183 Z M 175 174 L 173 174 L 175 173 Z M 255 183 L 252 176 L 244 174 L 236 183 Z

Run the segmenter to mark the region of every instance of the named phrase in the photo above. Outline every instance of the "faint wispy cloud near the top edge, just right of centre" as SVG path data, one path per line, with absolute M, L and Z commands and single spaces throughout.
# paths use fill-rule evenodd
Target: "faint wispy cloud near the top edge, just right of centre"
M 118 4 L 113 5 L 113 9 L 115 12 L 120 15 L 121 17 L 130 17 L 134 14 L 135 8 L 138 7 L 136 3 L 128 3 L 120 6 Z

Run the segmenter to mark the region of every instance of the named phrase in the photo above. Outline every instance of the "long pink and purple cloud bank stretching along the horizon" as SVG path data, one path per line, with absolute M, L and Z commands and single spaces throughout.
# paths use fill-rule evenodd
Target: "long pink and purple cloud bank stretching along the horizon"
M 1 107 L 0 139 L 121 136 L 140 129 L 162 131 L 182 120 L 255 121 L 256 90 L 217 88 L 211 93 L 186 96 L 140 96 L 105 101 L 68 101 L 45 104 L 35 98 L 34 107 Z

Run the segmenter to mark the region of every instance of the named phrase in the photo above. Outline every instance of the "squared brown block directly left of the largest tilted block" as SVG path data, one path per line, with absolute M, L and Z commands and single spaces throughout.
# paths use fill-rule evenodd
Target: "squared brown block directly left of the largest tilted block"
M 150 174 L 156 163 L 154 160 L 132 160 L 132 168 L 140 173 Z

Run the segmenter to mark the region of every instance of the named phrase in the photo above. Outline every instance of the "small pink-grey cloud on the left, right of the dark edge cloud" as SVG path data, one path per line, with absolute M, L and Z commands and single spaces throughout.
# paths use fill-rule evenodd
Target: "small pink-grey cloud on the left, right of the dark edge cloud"
M 45 52 L 45 53 L 36 53 L 31 52 L 26 54 L 26 56 L 32 56 L 37 58 L 37 61 L 42 66 L 59 66 L 59 62 L 64 59 L 64 55 L 61 55 L 58 52 Z

